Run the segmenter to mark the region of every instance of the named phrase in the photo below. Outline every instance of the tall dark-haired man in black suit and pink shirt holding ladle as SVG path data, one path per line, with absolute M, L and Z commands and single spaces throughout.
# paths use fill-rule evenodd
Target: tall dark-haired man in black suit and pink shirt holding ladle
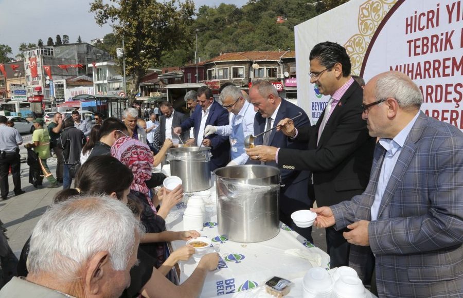
M 375 139 L 368 135 L 362 120 L 363 89 L 350 77 L 346 50 L 336 43 L 320 43 L 310 52 L 309 60 L 310 82 L 318 85 L 320 93 L 331 96 L 328 105 L 313 126 L 294 129 L 289 119 L 280 122 L 286 125 L 283 133 L 294 142 L 308 143 L 308 150 L 262 146 L 248 154 L 252 159 L 276 160 L 283 169 L 310 170 L 309 196 L 314 196 L 318 207 L 330 206 L 365 190 Z M 348 266 L 350 247 L 342 232 L 326 229 L 331 267 Z

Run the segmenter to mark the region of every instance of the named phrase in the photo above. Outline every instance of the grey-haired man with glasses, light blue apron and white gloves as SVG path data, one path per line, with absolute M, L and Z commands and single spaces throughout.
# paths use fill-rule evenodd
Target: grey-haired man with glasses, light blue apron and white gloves
M 218 134 L 230 139 L 231 161 L 227 164 L 244 164 L 248 156 L 244 151 L 244 138 L 254 135 L 254 116 L 256 111 L 241 94 L 240 88 L 226 86 L 220 93 L 222 106 L 230 111 L 229 124 L 223 126 L 207 125 L 204 136 Z

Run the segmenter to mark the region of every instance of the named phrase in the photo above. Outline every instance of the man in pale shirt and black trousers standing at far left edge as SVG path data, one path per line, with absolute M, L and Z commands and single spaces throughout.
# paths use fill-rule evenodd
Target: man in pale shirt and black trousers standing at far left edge
M 13 175 L 14 195 L 19 196 L 25 192 L 21 189 L 21 157 L 19 145 L 23 143 L 23 138 L 16 128 L 6 125 L 7 118 L 0 116 L 0 191 L 2 199 L 8 196 L 8 172 L 11 166 Z

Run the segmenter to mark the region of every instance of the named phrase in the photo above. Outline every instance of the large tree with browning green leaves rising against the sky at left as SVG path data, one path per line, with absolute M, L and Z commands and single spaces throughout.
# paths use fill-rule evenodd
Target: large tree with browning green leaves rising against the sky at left
M 188 26 L 192 24 L 194 4 L 192 0 L 185 0 L 184 3 L 176 0 L 163 3 L 153 0 L 114 0 L 114 3 L 117 5 L 94 0 L 90 11 L 95 12 L 99 26 L 110 20 L 116 38 L 124 38 L 126 72 L 132 76 L 129 91 L 132 103 L 148 68 L 159 65 L 166 51 L 192 43 L 194 34 Z M 118 62 L 122 64 L 120 59 Z

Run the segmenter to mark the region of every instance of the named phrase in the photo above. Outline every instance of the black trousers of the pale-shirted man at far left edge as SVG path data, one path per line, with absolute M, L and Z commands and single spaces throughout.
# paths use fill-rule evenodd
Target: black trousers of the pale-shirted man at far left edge
M 21 156 L 16 152 L 2 152 L 0 154 L 0 191 L 2 198 L 9 192 L 8 172 L 13 176 L 14 193 L 21 191 Z

